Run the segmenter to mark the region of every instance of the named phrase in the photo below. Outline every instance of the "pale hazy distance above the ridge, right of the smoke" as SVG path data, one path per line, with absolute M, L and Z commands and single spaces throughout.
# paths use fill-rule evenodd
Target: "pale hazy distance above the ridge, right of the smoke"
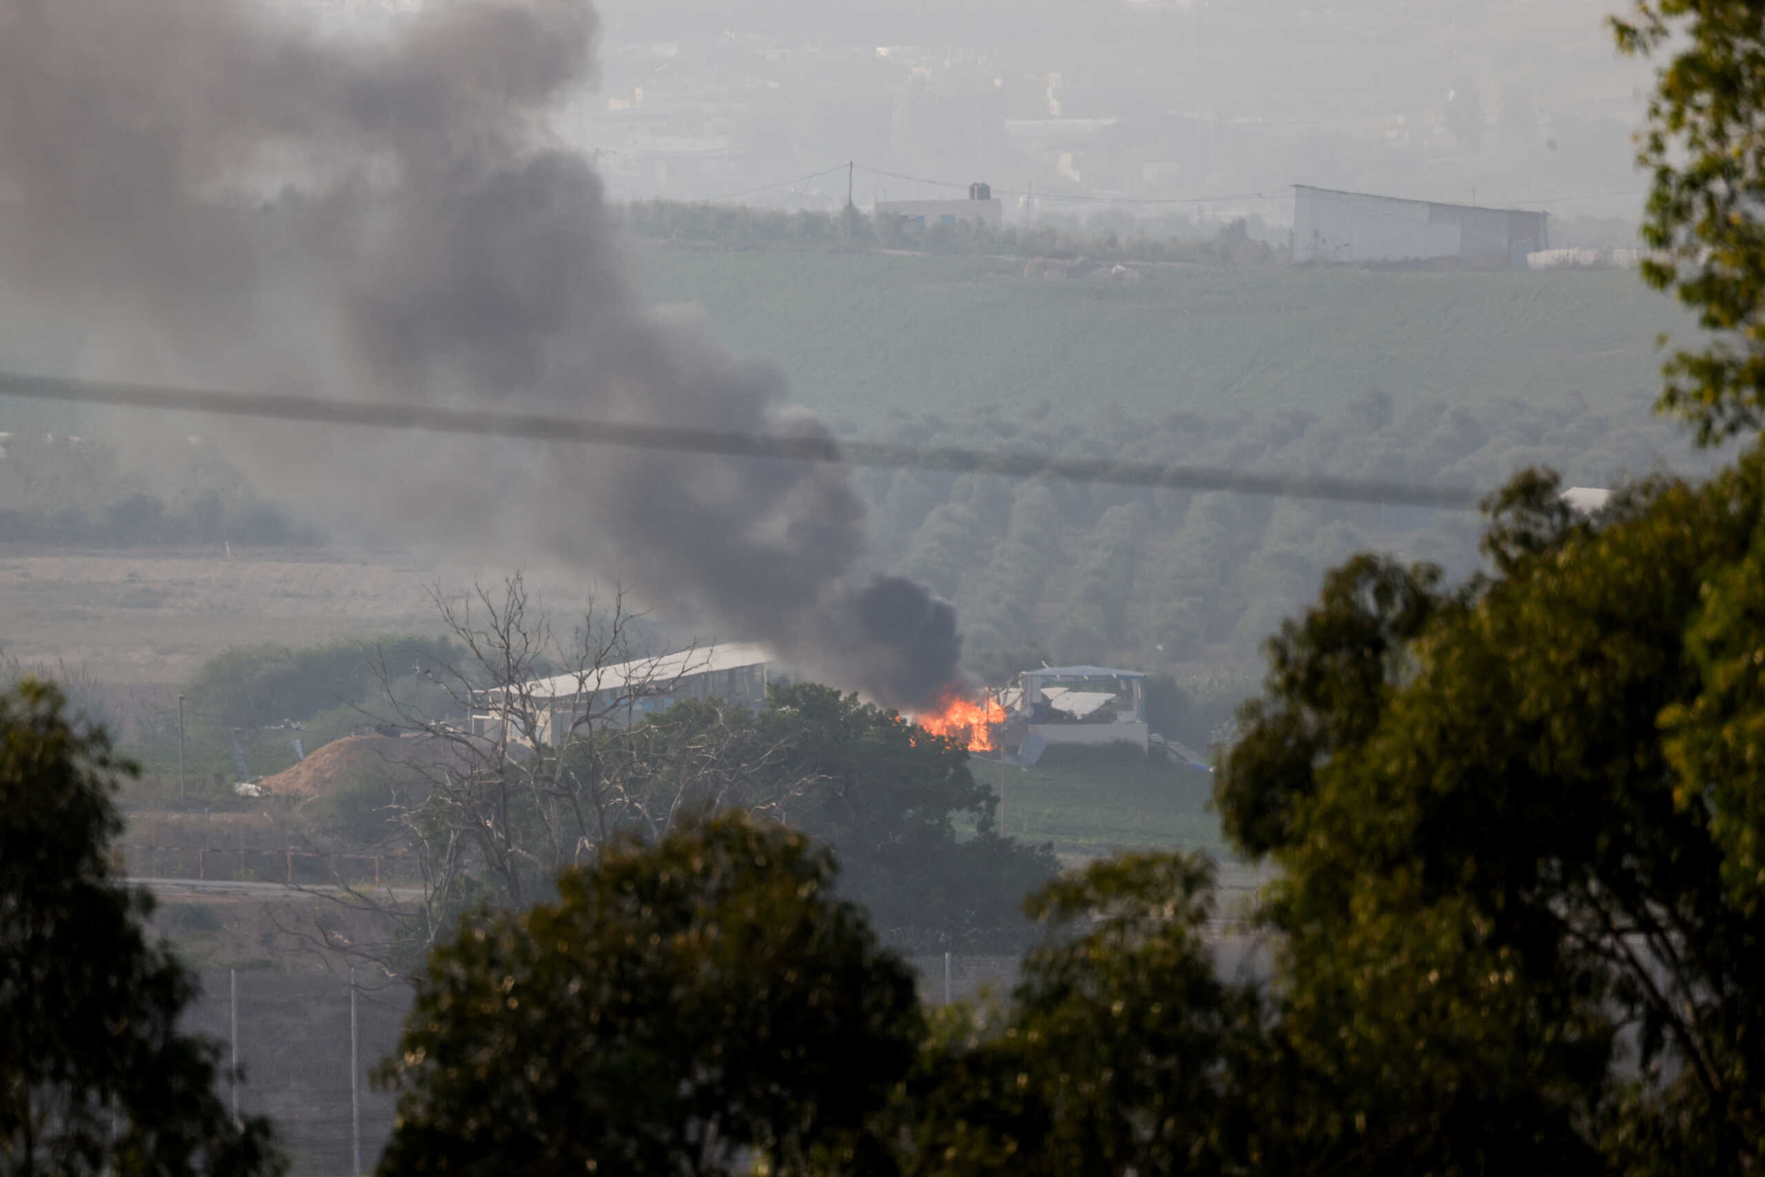
M 582 132 L 612 157 L 650 154 L 609 159 L 614 189 L 634 194 L 704 196 L 717 180 L 856 157 L 1142 198 L 1304 182 L 1633 214 L 1629 131 L 1649 67 L 1617 56 L 1606 12 L 1576 0 L 609 0 Z M 1045 152 L 1004 127 L 1050 118 L 1115 127 Z M 720 141 L 724 164 L 685 157 Z

